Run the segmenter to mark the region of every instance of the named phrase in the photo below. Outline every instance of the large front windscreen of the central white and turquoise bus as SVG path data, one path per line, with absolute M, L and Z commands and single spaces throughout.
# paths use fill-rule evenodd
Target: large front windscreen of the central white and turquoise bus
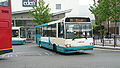
M 92 26 L 90 23 L 66 23 L 66 38 L 90 38 Z

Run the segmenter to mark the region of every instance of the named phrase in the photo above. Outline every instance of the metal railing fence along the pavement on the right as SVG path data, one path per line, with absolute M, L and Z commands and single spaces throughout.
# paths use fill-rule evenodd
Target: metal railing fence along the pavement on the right
M 94 36 L 94 45 L 120 47 L 120 35 L 116 36 Z

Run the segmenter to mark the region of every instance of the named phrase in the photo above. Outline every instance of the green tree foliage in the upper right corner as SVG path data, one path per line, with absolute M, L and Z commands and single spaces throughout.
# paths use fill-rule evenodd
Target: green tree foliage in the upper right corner
M 100 0 L 98 4 L 90 6 L 89 10 L 95 15 L 96 23 L 120 19 L 120 0 Z

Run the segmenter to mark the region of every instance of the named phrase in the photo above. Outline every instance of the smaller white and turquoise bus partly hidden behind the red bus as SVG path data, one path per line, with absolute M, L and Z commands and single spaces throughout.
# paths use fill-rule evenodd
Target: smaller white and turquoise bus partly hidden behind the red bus
M 12 27 L 12 44 L 26 43 L 26 29 L 24 27 Z

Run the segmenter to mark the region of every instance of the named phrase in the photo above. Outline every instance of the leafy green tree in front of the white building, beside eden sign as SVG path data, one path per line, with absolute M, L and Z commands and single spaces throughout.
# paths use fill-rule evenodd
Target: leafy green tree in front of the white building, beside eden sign
M 45 5 L 43 0 L 39 0 L 38 6 L 34 6 L 29 13 L 34 17 L 33 22 L 38 23 L 38 25 L 51 21 L 52 14 L 50 14 L 49 4 Z

